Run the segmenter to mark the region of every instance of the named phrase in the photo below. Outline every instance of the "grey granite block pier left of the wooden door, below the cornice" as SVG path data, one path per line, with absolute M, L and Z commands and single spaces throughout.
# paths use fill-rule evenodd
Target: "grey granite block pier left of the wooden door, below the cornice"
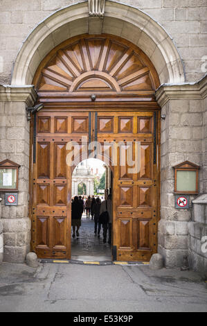
M 30 218 L 28 218 L 29 187 L 29 123 L 24 101 L 0 101 L 0 161 L 9 159 L 20 165 L 18 205 L 5 206 L 5 194 L 0 192 L 3 228 L 3 259 L 23 262 L 30 251 Z M 2 235 L 0 235 L 0 254 Z M 0 255 L 1 256 L 1 255 Z

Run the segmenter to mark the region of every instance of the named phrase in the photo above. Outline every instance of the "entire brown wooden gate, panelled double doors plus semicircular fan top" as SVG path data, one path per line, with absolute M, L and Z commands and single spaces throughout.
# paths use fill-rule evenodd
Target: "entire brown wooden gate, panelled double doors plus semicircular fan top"
M 156 252 L 159 218 L 160 112 L 154 92 L 160 83 L 152 62 L 120 37 L 79 35 L 46 55 L 33 83 L 44 110 L 31 123 L 32 249 L 38 257 L 71 257 L 75 164 L 69 144 L 83 151 L 98 141 L 97 158 L 114 175 L 113 257 L 148 261 Z M 126 146 L 137 171 L 130 170 Z

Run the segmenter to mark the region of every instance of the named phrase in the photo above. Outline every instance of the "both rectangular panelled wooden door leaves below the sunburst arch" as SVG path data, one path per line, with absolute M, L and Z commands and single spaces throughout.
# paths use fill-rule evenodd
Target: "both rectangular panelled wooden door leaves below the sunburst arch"
M 71 257 L 71 175 L 75 164 L 66 162 L 75 158 L 71 155 L 75 143 L 80 146 L 80 162 L 83 146 L 86 154 L 90 141 L 98 141 L 96 157 L 109 164 L 114 175 L 111 255 L 120 261 L 148 261 L 156 252 L 158 115 L 157 111 L 134 109 L 38 113 L 34 120 L 32 207 L 32 245 L 38 257 Z M 135 164 L 131 164 L 127 148 L 138 162 L 137 171 L 130 170 Z M 87 155 L 92 155 L 91 151 Z

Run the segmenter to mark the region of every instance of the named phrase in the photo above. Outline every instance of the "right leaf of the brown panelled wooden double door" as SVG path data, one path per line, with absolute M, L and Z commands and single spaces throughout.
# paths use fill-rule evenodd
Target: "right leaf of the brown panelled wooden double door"
M 112 114 L 111 114 L 112 113 Z M 114 118 L 111 119 L 111 116 Z M 114 246 L 117 259 L 148 261 L 156 252 L 157 168 L 154 165 L 154 113 L 153 112 L 98 112 L 98 121 L 110 121 L 109 128 L 100 131 L 98 141 L 116 141 L 118 165 L 114 166 Z M 109 122 L 107 121 L 107 122 Z M 114 130 L 113 135 L 110 131 Z M 131 160 L 138 160 L 135 141 L 140 142 L 140 170 L 130 171 L 132 162 L 127 149 L 132 143 Z M 111 157 L 111 151 L 108 151 Z M 124 163 L 125 161 L 125 163 Z M 124 164 L 123 164 L 124 163 Z M 117 191 L 119 190 L 119 191 Z

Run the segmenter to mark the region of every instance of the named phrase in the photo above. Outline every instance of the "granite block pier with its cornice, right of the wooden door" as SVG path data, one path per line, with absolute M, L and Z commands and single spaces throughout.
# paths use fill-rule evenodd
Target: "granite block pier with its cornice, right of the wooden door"
M 206 85 L 204 78 L 202 85 Z M 198 87 L 198 88 L 197 88 Z M 199 170 L 199 194 L 206 191 L 206 170 L 203 166 L 206 126 L 204 124 L 205 99 L 197 87 L 163 87 L 165 101 L 160 101 L 165 120 L 161 121 L 161 221 L 159 222 L 159 253 L 168 267 L 181 266 L 183 255 L 188 255 L 189 223 L 192 221 L 192 200 L 190 209 L 176 209 L 174 206 L 173 166 L 186 160 L 201 167 Z M 174 93 L 174 94 L 172 94 Z M 164 95 L 163 95 L 164 96 Z M 167 99 L 166 99 L 167 98 Z M 206 222 L 203 222 L 206 223 Z M 204 229 L 206 232 L 206 229 Z M 207 235 L 207 234 L 206 234 Z M 200 239 L 201 241 L 201 239 Z

